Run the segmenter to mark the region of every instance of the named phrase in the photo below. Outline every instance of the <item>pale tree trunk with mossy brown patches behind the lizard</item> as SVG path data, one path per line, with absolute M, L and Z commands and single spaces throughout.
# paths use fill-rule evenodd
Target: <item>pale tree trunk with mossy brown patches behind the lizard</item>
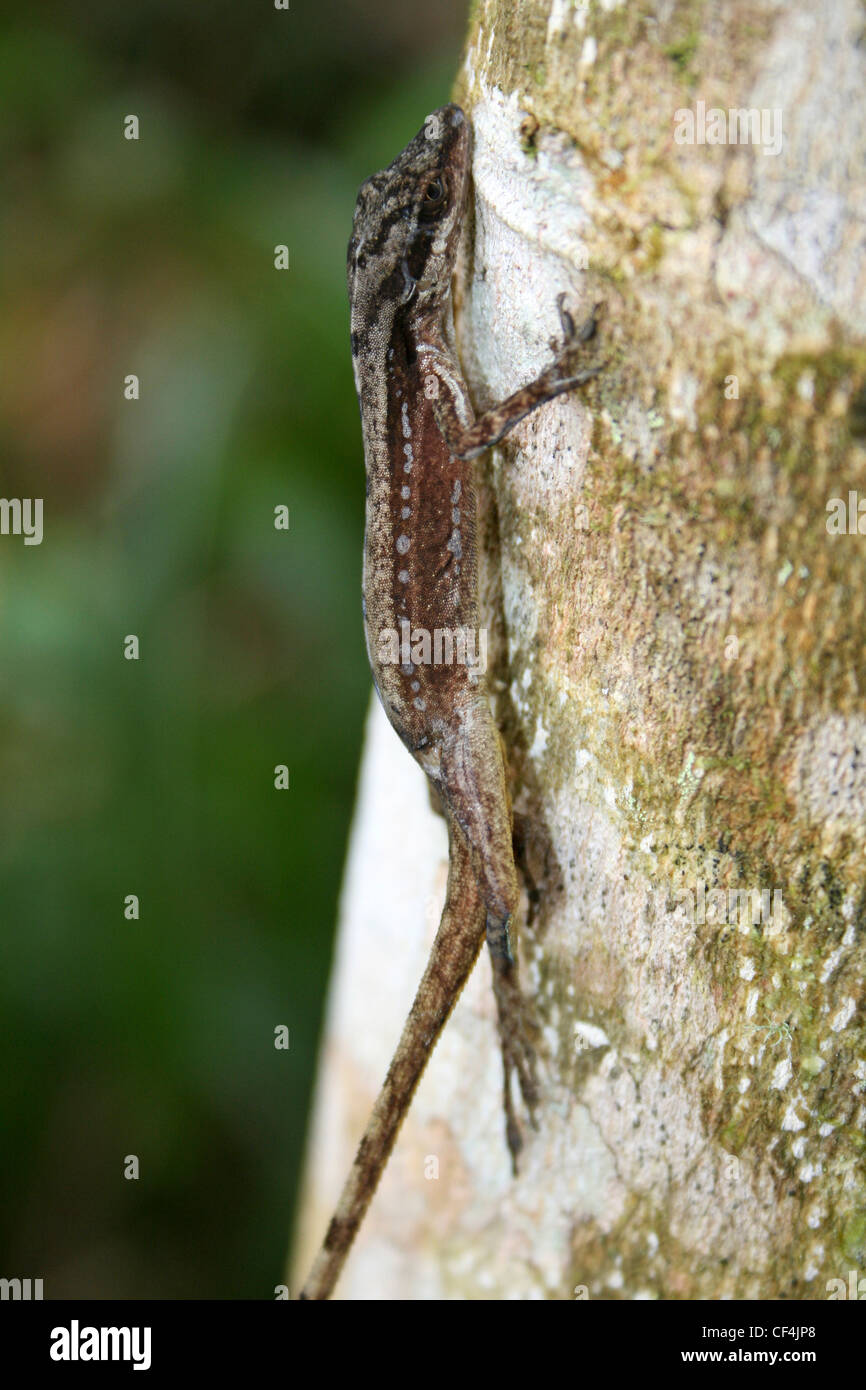
M 342 1297 L 827 1298 L 866 1273 L 865 90 L 859 0 L 474 11 L 475 404 L 545 363 L 557 293 L 605 303 L 603 377 L 481 466 L 544 1105 L 514 1180 L 482 959 Z M 698 103 L 766 111 L 769 142 L 781 113 L 780 152 L 678 143 Z M 445 849 L 377 710 L 299 1266 Z

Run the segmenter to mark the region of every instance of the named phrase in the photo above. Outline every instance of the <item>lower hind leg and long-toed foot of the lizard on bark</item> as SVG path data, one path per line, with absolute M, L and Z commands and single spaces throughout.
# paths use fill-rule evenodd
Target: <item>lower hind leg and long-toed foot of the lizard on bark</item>
M 510 917 L 487 915 L 487 944 L 493 969 L 493 997 L 502 1048 L 505 1131 L 512 1154 L 512 1168 L 517 1173 L 517 1156 L 523 1148 L 523 1129 L 514 1108 L 513 1081 L 517 1080 L 532 1129 L 538 1106 L 538 1068 L 535 1052 L 537 1027 L 531 1006 L 521 994 L 517 960 L 509 937 Z

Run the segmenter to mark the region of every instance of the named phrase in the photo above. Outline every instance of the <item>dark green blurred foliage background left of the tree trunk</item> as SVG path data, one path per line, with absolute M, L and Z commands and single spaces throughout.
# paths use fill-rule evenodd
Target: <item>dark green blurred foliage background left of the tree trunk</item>
M 0 537 L 0 1276 L 46 1298 L 284 1277 L 370 689 L 346 242 L 464 24 L 0 31 L 0 495 L 44 499 L 42 545 Z

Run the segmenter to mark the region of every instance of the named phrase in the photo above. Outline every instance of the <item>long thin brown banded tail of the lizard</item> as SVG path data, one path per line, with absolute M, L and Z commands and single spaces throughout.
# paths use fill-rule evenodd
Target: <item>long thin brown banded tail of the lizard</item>
M 373 1200 L 427 1061 L 485 937 L 487 909 L 463 831 L 449 816 L 448 895 L 430 962 L 354 1163 L 300 1298 L 328 1298 Z

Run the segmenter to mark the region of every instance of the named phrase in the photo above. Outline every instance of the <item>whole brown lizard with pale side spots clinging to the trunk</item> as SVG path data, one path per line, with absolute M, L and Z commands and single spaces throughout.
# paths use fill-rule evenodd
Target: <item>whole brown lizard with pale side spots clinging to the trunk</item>
M 453 339 L 452 278 L 471 129 L 443 106 L 361 186 L 349 242 L 352 357 L 367 468 L 363 607 L 388 719 L 435 785 L 449 835 L 445 909 L 393 1061 L 300 1298 L 328 1298 L 424 1066 L 487 937 L 505 1069 L 506 1136 L 521 1145 L 512 1079 L 532 1118 L 535 1055 L 510 926 L 518 901 L 499 734 L 477 660 L 431 659 L 435 634 L 478 652 L 473 460 L 537 406 L 601 370 L 595 317 L 530 385 L 475 417 Z M 584 363 L 581 367 L 581 361 Z M 427 634 L 427 645 L 424 641 Z M 463 648 L 460 649 L 460 637 Z M 442 638 L 441 638 L 442 641 Z

